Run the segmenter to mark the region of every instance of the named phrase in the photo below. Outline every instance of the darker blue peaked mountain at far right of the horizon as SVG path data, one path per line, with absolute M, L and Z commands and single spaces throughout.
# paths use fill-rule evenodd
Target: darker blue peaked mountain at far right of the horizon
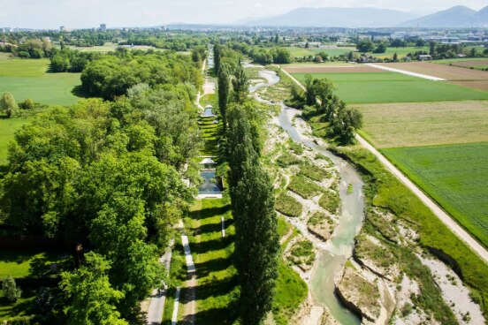
M 488 25 L 488 10 L 474 11 L 464 5 L 457 5 L 445 11 L 438 11 L 419 19 L 408 20 L 400 27 L 465 27 Z

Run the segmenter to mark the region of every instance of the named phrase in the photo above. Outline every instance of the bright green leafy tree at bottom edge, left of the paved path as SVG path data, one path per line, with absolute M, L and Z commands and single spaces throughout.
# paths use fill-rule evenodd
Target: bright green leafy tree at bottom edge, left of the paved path
M 115 304 L 124 294 L 111 287 L 107 272 L 111 265 L 99 254 L 85 255 L 85 264 L 73 272 L 64 272 L 60 286 L 70 300 L 68 325 L 126 325 Z

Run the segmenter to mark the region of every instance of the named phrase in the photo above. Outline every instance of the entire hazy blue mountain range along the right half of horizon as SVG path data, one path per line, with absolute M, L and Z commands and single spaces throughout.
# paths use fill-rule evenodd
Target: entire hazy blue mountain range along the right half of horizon
M 377 8 L 298 8 L 285 14 L 248 19 L 240 26 L 297 27 L 484 27 L 488 26 L 488 6 L 474 11 L 458 5 L 420 17 L 416 14 Z

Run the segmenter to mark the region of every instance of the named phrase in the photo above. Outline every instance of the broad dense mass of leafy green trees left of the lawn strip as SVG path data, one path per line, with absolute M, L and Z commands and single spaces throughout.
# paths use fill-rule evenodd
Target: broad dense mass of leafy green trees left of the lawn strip
M 78 247 L 78 267 L 61 268 L 59 286 L 39 292 L 33 322 L 144 323 L 140 301 L 167 281 L 158 257 L 195 193 L 181 178 L 198 179 L 187 162 L 202 145 L 194 108 L 201 80 L 187 78 L 190 57 L 138 59 L 164 66 L 171 82 L 45 110 L 11 144 L 0 180 L 3 225 Z

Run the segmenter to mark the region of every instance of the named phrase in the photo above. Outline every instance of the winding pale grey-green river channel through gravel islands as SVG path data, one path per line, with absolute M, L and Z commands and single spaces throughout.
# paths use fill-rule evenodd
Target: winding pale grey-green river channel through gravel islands
M 251 93 L 261 87 L 271 87 L 279 82 L 276 72 L 262 70 L 260 76 L 267 82 L 258 83 L 249 87 Z M 261 102 L 266 102 L 255 94 Z M 276 104 L 276 103 L 275 103 Z M 338 167 L 340 182 L 339 192 L 342 204 L 339 225 L 334 231 L 332 238 L 324 246 L 319 248 L 318 264 L 309 280 L 309 291 L 317 306 L 327 308 L 332 317 L 345 325 L 360 324 L 361 320 L 351 313 L 339 300 L 335 292 L 335 281 L 339 280 L 347 259 L 353 253 L 355 236 L 362 227 L 364 219 L 364 196 L 362 193 L 362 179 L 356 170 L 346 161 L 333 155 L 326 147 L 316 144 L 315 140 L 308 135 L 302 134 L 294 126 L 294 117 L 301 115 L 300 110 L 295 110 L 279 102 L 282 109 L 278 116 L 278 125 L 281 126 L 296 143 L 301 143 L 311 148 L 317 154 L 331 158 Z M 353 193 L 347 193 L 348 185 L 353 185 Z

